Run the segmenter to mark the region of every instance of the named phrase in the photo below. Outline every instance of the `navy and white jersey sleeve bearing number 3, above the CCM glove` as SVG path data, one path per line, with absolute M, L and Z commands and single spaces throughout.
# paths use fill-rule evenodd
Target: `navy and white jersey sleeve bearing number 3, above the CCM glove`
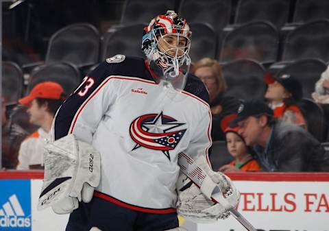
M 117 97 L 119 86 L 111 81 L 111 69 L 112 64 L 99 64 L 64 101 L 53 121 L 53 141 L 73 133 L 91 143 L 99 122 Z

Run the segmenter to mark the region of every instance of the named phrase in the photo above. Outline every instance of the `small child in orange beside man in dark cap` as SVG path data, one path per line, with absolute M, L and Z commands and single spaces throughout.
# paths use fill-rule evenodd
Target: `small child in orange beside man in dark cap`
M 238 134 L 239 127 L 230 127 L 228 123 L 236 118 L 236 114 L 230 114 L 221 121 L 221 130 L 226 136 L 226 147 L 234 160 L 228 165 L 223 165 L 219 171 L 228 172 L 245 172 L 260 171 L 258 161 L 252 155 L 252 149 L 245 144 L 245 140 Z

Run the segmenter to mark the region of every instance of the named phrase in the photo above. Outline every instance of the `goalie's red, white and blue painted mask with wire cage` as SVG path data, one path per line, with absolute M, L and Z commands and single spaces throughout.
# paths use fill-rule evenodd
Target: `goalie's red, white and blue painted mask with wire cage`
M 168 10 L 158 15 L 144 28 L 142 50 L 152 71 L 163 84 L 183 89 L 191 64 L 188 51 L 191 30 L 186 20 Z

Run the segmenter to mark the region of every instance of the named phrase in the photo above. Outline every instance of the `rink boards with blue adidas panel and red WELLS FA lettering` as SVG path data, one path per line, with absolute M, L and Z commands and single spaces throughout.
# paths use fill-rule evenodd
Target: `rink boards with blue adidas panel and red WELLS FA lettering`
M 42 172 L 0 172 L 0 230 L 62 231 L 67 215 L 36 210 Z M 237 209 L 258 231 L 329 231 L 329 173 L 234 173 Z M 242 231 L 233 217 L 188 231 Z

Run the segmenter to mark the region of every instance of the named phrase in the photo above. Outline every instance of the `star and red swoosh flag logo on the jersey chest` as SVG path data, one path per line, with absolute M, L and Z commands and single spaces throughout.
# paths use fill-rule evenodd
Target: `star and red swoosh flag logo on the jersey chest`
M 134 149 L 146 147 L 162 151 L 170 160 L 169 151 L 180 143 L 186 129 L 180 129 L 180 123 L 172 117 L 162 114 L 145 114 L 132 121 L 130 136 L 136 142 Z

